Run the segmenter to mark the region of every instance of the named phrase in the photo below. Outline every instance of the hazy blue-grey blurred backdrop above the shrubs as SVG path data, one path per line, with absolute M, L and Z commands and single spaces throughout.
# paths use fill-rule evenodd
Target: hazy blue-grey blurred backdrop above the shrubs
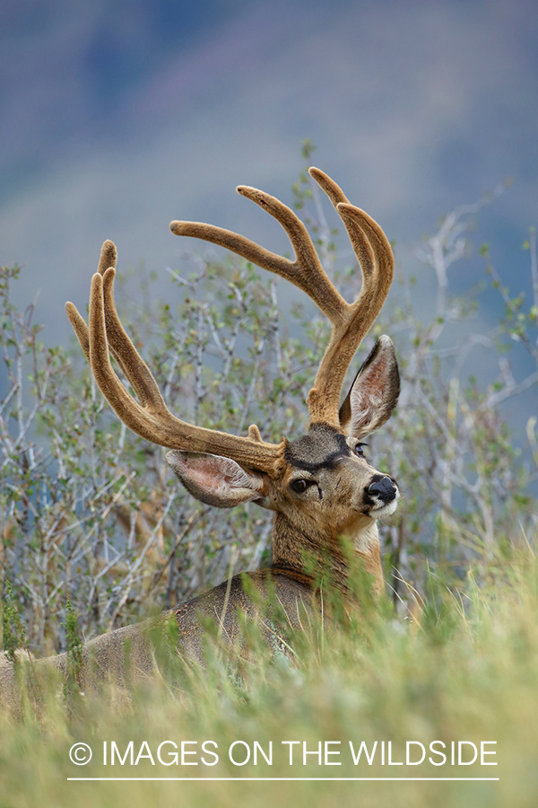
M 48 344 L 69 338 L 65 300 L 84 309 L 106 238 L 120 271 L 142 262 L 163 288 L 186 249 L 171 219 L 286 250 L 278 225 L 234 189 L 291 203 L 304 138 L 404 263 L 439 216 L 511 178 L 477 238 L 515 291 L 528 284 L 531 0 L 1 5 L 0 262 L 23 266 L 15 299 L 39 294 Z

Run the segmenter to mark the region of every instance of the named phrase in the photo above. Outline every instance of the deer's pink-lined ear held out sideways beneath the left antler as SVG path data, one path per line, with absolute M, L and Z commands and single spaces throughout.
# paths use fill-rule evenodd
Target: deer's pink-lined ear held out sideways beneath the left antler
M 263 474 L 247 471 L 228 457 L 173 450 L 166 459 L 187 491 L 205 505 L 232 508 L 266 494 Z

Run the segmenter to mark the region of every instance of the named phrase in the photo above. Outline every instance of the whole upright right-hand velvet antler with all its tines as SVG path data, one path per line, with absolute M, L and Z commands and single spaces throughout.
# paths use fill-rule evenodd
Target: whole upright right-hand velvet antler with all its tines
M 394 259 L 385 233 L 368 214 L 350 204 L 343 190 L 323 171 L 309 169 L 330 198 L 350 236 L 362 270 L 363 284 L 355 303 L 346 303 L 334 288 L 317 257 L 307 228 L 293 211 L 263 191 L 239 186 L 239 193 L 272 215 L 288 233 L 295 260 L 265 250 L 250 239 L 198 222 L 172 222 L 176 235 L 193 236 L 237 253 L 258 267 L 284 277 L 306 292 L 333 325 L 333 334 L 308 394 L 310 423 L 339 427 L 340 392 L 345 374 L 360 342 L 380 312 L 394 276 Z

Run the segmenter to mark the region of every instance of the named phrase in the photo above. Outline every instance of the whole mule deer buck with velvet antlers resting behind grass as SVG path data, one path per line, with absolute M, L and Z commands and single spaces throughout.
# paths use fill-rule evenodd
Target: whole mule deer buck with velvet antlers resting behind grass
M 108 403 L 137 435 L 171 450 L 167 460 L 187 490 L 208 505 L 229 508 L 254 502 L 274 512 L 273 563 L 269 568 L 235 575 L 168 613 L 177 621 L 179 650 L 187 657 L 202 656 L 201 617 L 213 618 L 221 636 L 234 644 L 240 633 L 239 612 L 243 619 L 245 615 L 247 619 L 260 617 L 258 601 L 268 593 L 274 594 L 291 626 L 299 627 L 301 610 L 315 608 L 316 566 L 328 568 L 334 585 L 345 597 L 349 554 L 343 540 L 354 547 L 374 592 L 383 587 L 377 520 L 395 512 L 399 493 L 394 479 L 369 465 L 361 442 L 385 424 L 398 399 L 398 368 L 388 337 L 377 339 L 342 406 L 340 395 L 351 360 L 385 302 L 394 259 L 379 225 L 352 206 L 323 171 L 311 168 L 310 175 L 341 216 L 359 259 L 363 283 L 354 303 L 346 303 L 326 276 L 304 224 L 289 207 L 263 191 L 238 188 L 242 196 L 282 224 L 295 252 L 294 260 L 210 224 L 170 224 L 176 235 L 221 245 L 291 281 L 331 322 L 332 336 L 308 394 L 308 433 L 299 439 L 284 437 L 279 444 L 266 443 L 257 426 L 250 426 L 247 436 L 229 435 L 187 424 L 169 412 L 149 367 L 117 316 L 113 297 L 117 251 L 112 242 L 103 244 L 99 270 L 91 279 L 89 325 L 73 303 L 66 304 L 91 372 Z M 120 382 L 110 354 L 138 400 Z M 263 617 L 260 619 L 263 624 Z M 134 672 L 151 672 L 151 644 L 139 626 L 120 628 L 86 643 L 84 658 L 93 658 L 103 677 L 126 681 L 127 640 Z M 43 663 L 65 672 L 66 655 L 35 664 Z M 9 666 L 4 664 L 3 670 L 5 689 Z M 13 672 L 11 676 L 13 686 Z

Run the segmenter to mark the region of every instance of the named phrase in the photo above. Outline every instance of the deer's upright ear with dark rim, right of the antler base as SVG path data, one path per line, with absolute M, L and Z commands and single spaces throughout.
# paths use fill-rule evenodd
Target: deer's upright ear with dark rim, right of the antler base
M 391 417 L 400 395 L 400 373 L 392 340 L 379 337 L 351 384 L 340 423 L 346 435 L 365 437 Z

